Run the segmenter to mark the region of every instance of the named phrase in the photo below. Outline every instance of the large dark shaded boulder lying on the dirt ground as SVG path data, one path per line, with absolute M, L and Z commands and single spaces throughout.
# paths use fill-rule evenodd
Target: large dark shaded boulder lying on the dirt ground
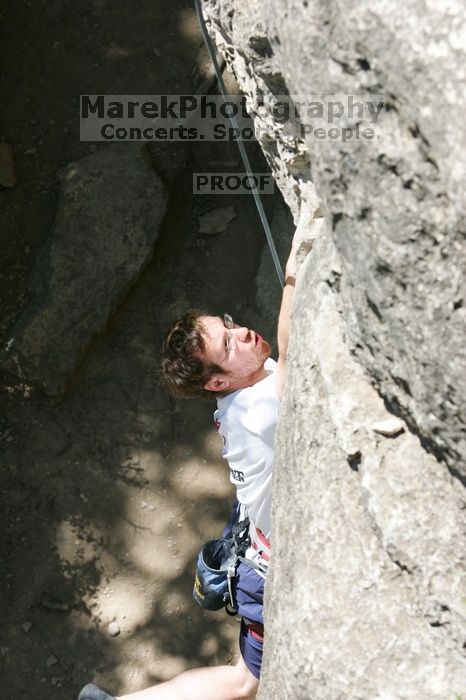
M 149 261 L 166 209 L 145 149 L 111 145 L 60 172 L 53 229 L 32 302 L 2 353 L 4 369 L 62 392 L 82 356 Z

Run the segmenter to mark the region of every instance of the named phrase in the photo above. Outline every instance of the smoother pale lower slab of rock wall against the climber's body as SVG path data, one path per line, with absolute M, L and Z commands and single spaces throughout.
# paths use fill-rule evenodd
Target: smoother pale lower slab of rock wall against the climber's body
M 393 429 L 347 343 L 339 265 L 326 234 L 296 290 L 260 697 L 455 697 L 466 680 L 464 488 Z

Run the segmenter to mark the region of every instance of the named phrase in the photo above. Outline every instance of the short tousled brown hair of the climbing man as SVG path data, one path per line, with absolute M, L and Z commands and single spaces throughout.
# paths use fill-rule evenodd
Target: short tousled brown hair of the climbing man
M 168 329 L 161 348 L 162 377 L 168 389 L 178 398 L 201 397 L 212 399 L 215 391 L 204 389 L 213 374 L 224 374 L 216 364 L 206 364 L 200 355 L 204 352 L 199 317 L 206 315 L 200 309 L 190 309 Z

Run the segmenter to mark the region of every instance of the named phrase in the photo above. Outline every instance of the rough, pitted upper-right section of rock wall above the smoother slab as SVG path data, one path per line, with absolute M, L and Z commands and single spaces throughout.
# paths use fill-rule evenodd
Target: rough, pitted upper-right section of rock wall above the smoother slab
M 266 120 L 273 140 L 261 145 L 294 213 L 311 172 L 350 270 L 352 346 L 410 427 L 457 466 L 466 448 L 463 4 L 204 6 L 252 96 L 386 95 L 379 142 L 304 143 Z

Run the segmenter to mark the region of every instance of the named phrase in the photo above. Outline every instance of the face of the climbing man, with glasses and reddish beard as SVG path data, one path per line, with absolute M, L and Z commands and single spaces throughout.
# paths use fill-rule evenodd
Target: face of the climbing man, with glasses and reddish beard
M 225 374 L 214 374 L 204 388 L 231 393 L 264 379 L 264 362 L 271 347 L 258 333 L 234 323 L 227 314 L 200 316 L 205 351 L 203 359 L 219 365 Z

